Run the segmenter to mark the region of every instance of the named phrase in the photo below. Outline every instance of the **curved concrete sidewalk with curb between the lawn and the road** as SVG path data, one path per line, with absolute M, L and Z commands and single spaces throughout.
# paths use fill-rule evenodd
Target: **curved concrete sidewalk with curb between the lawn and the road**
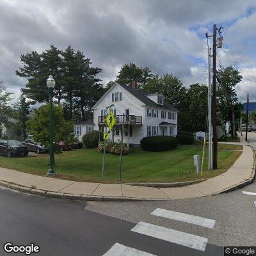
M 222 175 L 182 188 L 74 182 L 0 168 L 0 185 L 35 195 L 74 200 L 173 200 L 216 195 L 252 182 L 255 156 L 244 145 L 236 163 Z

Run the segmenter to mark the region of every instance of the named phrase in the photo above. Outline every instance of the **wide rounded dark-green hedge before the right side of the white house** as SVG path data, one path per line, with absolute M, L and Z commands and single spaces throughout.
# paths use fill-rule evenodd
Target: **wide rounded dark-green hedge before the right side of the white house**
M 165 151 L 177 147 L 178 141 L 171 136 L 152 136 L 143 138 L 140 143 L 143 150 Z

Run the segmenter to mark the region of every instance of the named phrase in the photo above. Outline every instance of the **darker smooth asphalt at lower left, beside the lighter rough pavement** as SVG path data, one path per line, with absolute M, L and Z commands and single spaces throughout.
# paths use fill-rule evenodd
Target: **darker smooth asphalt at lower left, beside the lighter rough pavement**
M 158 256 L 169 256 L 170 253 L 182 256 L 223 255 L 222 248 L 209 243 L 206 244 L 205 252 L 202 252 L 145 236 L 131 231 L 136 223 L 86 211 L 85 206 L 80 202 L 43 198 L 1 188 L 0 255 L 24 255 L 4 253 L 3 244 L 6 242 L 19 245 L 33 242 L 40 246 L 41 251 L 32 255 L 44 256 L 104 255 L 111 248 L 106 255 L 118 256 L 118 244 Z M 198 243 L 201 243 L 200 239 Z M 132 254 L 125 255 L 143 255 L 141 252 L 131 252 L 130 249 Z

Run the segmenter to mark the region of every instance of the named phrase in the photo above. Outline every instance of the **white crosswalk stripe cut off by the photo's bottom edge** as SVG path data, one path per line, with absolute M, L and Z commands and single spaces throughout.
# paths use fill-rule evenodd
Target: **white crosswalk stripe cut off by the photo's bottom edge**
M 109 250 L 102 256 L 156 256 L 151 253 L 143 252 L 123 244 L 115 243 Z

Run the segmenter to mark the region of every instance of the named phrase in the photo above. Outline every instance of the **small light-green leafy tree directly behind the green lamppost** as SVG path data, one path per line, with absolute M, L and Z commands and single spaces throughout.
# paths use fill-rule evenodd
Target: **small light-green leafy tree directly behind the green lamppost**
M 63 117 L 63 108 L 58 105 L 53 106 L 53 138 L 54 143 L 63 141 L 72 143 L 72 122 L 67 122 Z M 28 131 L 33 135 L 33 140 L 49 147 L 49 104 L 45 104 L 35 110 L 35 117 L 27 122 Z

